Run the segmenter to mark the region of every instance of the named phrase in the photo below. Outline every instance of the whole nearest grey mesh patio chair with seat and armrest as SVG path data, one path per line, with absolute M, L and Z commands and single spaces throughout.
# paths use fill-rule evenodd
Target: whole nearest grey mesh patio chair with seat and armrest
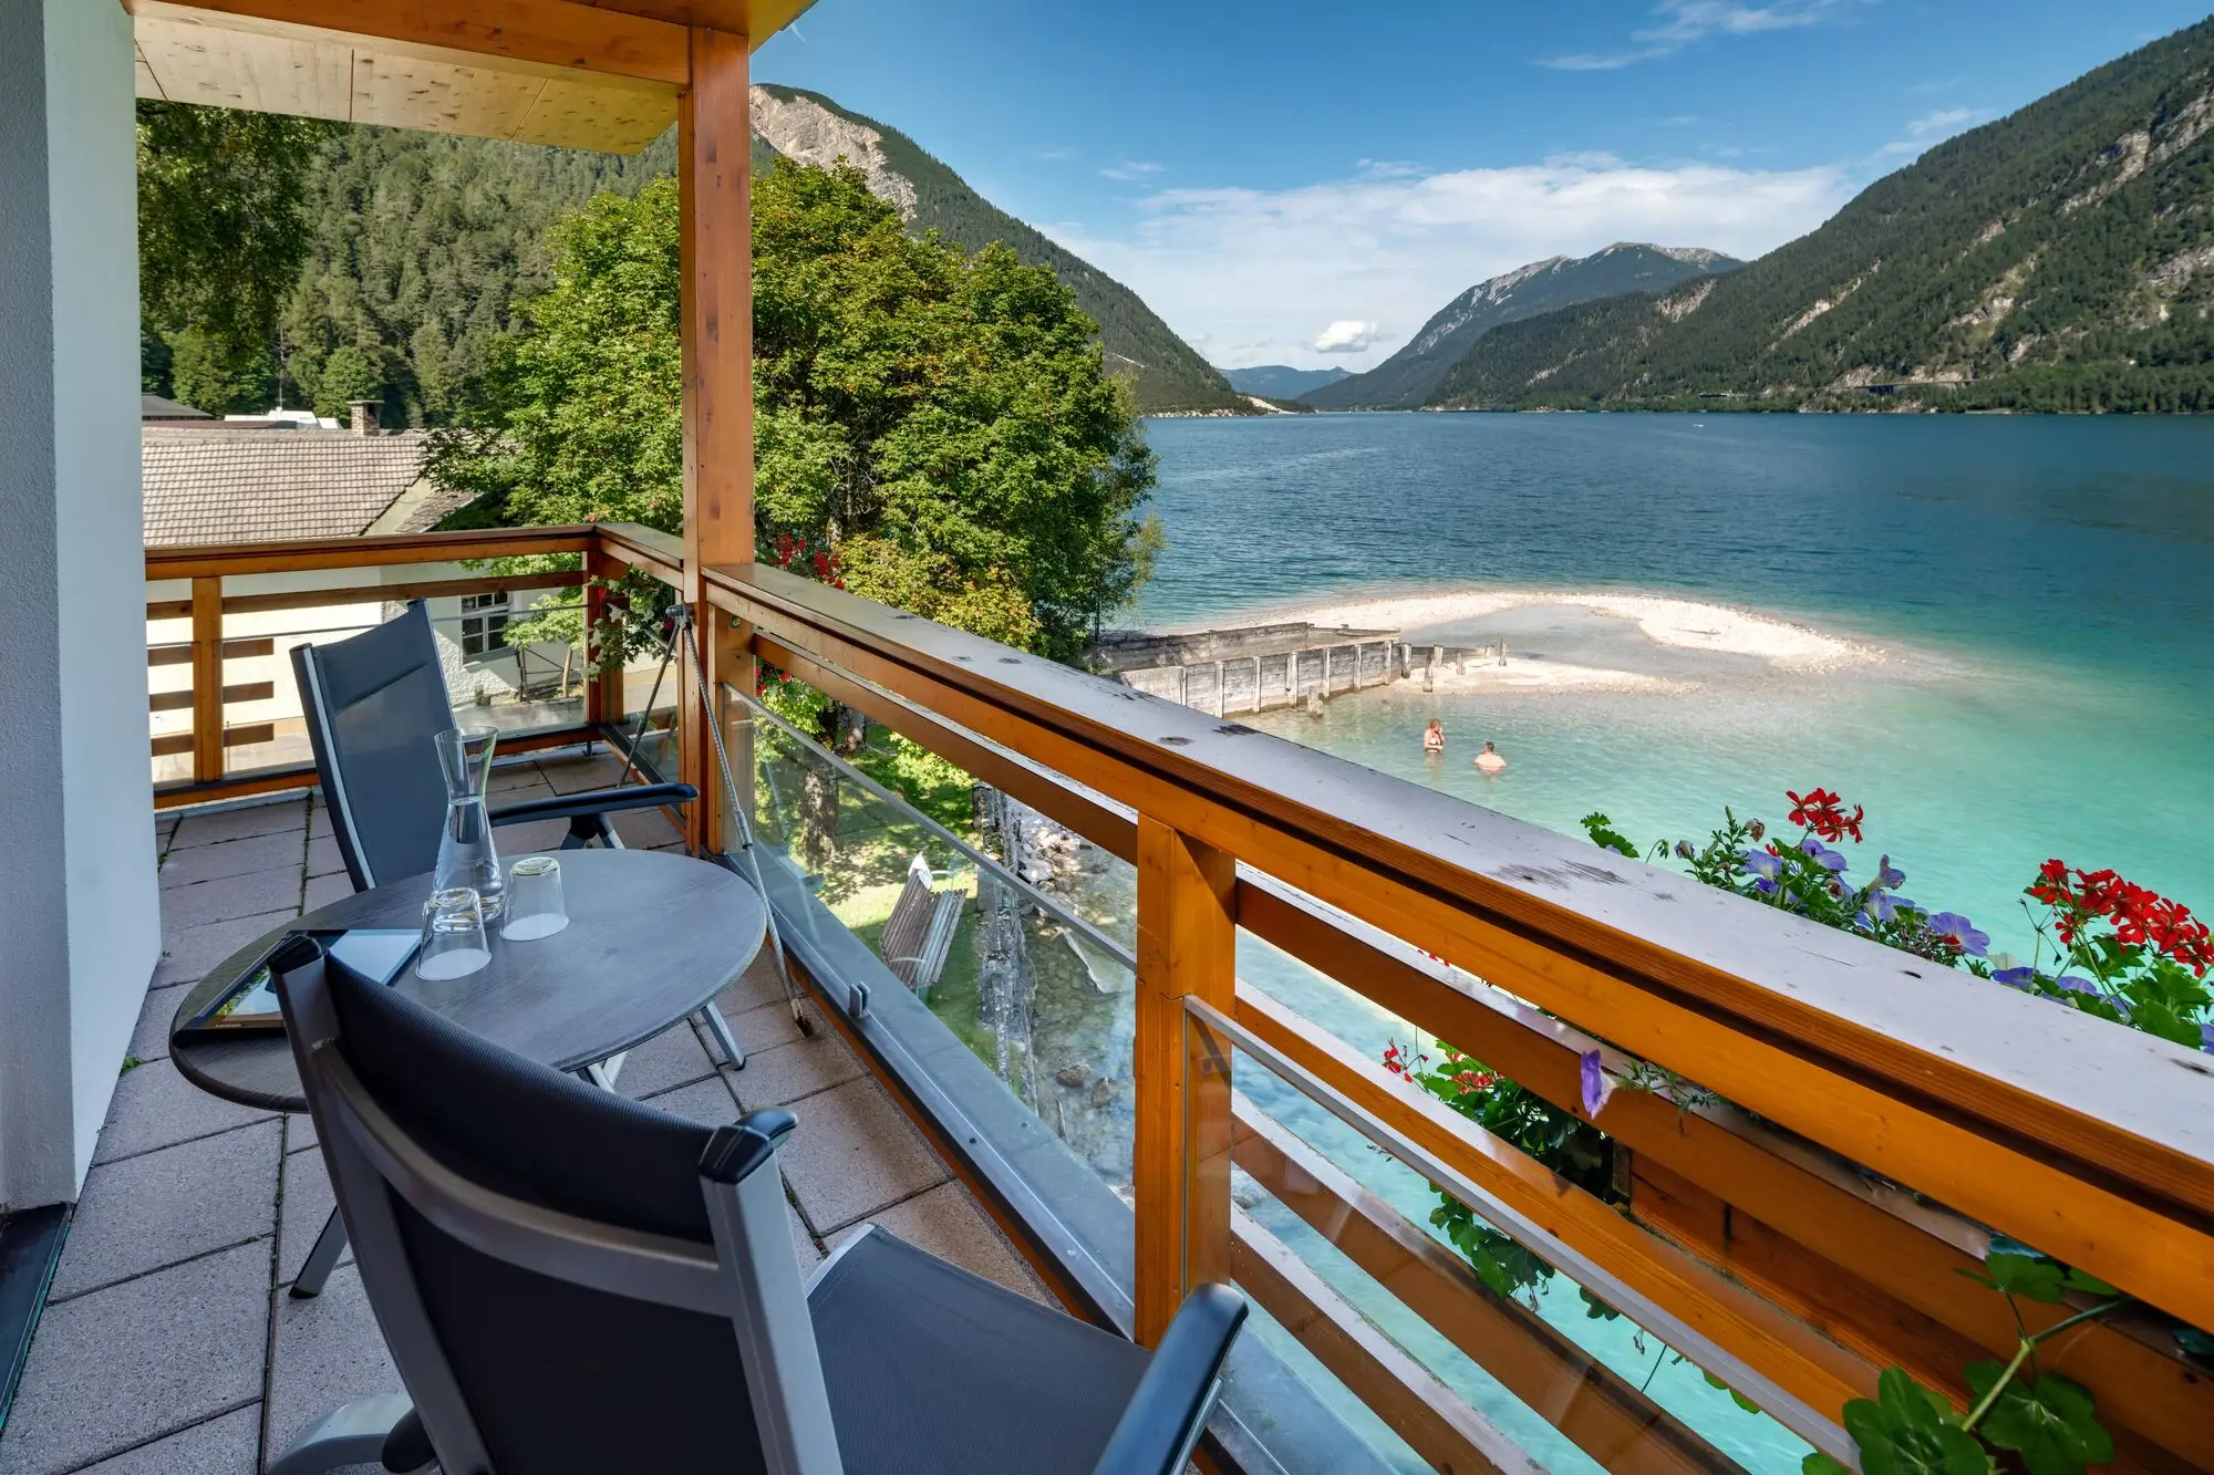
M 308 939 L 277 972 L 412 1409 L 348 1404 L 270 1475 L 1182 1471 L 1235 1291 L 1196 1291 L 1149 1353 L 879 1229 L 801 1282 L 790 1112 L 711 1130 L 591 1090 Z

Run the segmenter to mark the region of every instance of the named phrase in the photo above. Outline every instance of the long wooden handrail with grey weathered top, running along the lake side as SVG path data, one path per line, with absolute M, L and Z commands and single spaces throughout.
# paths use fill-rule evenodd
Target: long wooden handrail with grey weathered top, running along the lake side
M 704 578 L 821 664 L 2214 1324 L 2194 1052 L 777 569 Z

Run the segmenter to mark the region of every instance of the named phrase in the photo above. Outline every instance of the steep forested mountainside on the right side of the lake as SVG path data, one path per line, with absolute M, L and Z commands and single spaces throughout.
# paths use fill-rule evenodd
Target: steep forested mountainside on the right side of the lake
M 1446 405 L 2214 410 L 2214 20 L 1751 266 L 1490 332 Z

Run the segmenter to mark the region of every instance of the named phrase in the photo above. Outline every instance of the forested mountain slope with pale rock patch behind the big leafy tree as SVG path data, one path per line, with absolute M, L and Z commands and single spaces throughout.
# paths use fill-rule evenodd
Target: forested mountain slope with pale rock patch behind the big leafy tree
M 793 144 L 801 162 L 852 155 L 917 230 L 943 230 L 972 250 L 1007 241 L 1023 261 L 1052 266 L 1098 319 L 1109 370 L 1136 381 L 1145 410 L 1253 412 L 1129 288 L 992 208 L 906 135 L 790 89 L 755 89 L 755 168 L 777 157 L 759 131 L 773 124 L 768 131 Z M 801 115 L 837 128 L 795 126 Z M 870 148 L 855 146 L 863 131 L 875 140 L 875 162 L 866 157 Z M 824 153 L 826 142 L 846 146 Z M 343 414 L 343 399 L 365 392 L 356 377 L 368 361 L 368 383 L 381 385 L 387 423 L 454 421 L 492 343 L 511 332 L 516 303 L 551 286 L 549 226 L 600 190 L 633 195 L 673 168 L 673 135 L 638 157 L 618 157 L 332 126 L 308 190 L 312 244 L 281 314 L 281 341 L 259 377 L 237 385 L 237 403 L 215 408 L 259 410 L 281 392 L 286 403 L 321 401 L 325 412 Z M 323 383 L 323 365 L 341 348 L 361 354 L 345 354 L 345 392 L 341 374 Z M 148 343 L 151 392 L 170 390 L 164 365 L 164 345 Z

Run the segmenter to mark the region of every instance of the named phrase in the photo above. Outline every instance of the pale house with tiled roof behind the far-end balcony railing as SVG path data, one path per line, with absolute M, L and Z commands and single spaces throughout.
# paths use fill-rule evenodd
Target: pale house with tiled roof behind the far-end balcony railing
M 370 534 L 430 532 L 467 505 L 467 496 L 423 472 L 427 432 L 376 432 L 356 416 L 356 430 L 323 430 L 292 419 L 190 421 L 146 419 L 139 425 L 146 547 L 204 547 L 221 543 L 321 543 Z M 421 585 L 469 578 L 463 565 L 407 565 L 301 574 L 232 576 L 232 596 L 283 596 L 312 587 Z M 188 587 L 148 585 L 148 598 L 182 600 Z M 487 591 L 430 600 L 432 629 L 445 658 L 447 691 L 472 720 L 529 726 L 547 720 L 547 704 L 580 691 L 582 667 L 565 644 L 509 644 L 511 613 L 538 600 L 531 591 Z M 281 600 L 279 600 L 281 602 Z M 379 625 L 403 598 L 310 609 L 246 609 L 224 613 L 226 640 L 263 642 L 261 653 L 226 660 L 226 726 L 266 733 L 266 742 L 230 751 L 232 764 L 299 762 L 308 753 L 299 693 L 292 687 L 292 647 L 343 640 Z M 190 755 L 164 744 L 188 733 L 193 713 L 175 702 L 190 689 L 190 664 L 162 662 L 162 651 L 190 642 L 190 620 L 146 622 L 155 660 L 148 669 L 155 735 L 155 782 L 190 773 Z

